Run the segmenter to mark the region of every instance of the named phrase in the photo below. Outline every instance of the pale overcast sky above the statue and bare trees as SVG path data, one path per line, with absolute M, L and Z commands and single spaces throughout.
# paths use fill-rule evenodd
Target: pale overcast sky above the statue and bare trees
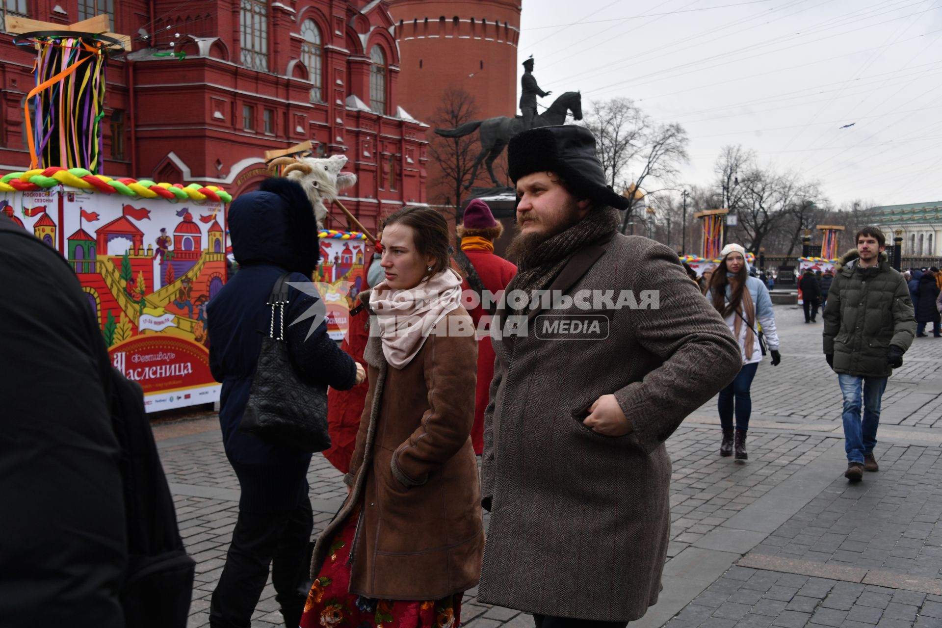
M 740 143 L 836 204 L 942 201 L 942 0 L 524 0 L 521 28 L 543 105 L 680 122 L 688 185 Z

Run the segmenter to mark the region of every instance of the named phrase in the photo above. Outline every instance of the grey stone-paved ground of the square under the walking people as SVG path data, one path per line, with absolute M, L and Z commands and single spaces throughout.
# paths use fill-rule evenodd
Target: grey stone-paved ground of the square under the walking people
M 942 341 L 917 339 L 906 354 L 884 397 L 881 423 L 899 427 L 892 443 L 878 445 L 882 471 L 849 486 L 841 475 L 840 393 L 820 356 L 820 323 L 804 325 L 797 308 L 776 306 L 776 316 L 783 362 L 765 362 L 755 378 L 754 426 L 765 427 L 750 430 L 749 461 L 717 455 L 715 400 L 667 443 L 674 474 L 664 591 L 638 624 L 942 628 L 942 588 L 931 584 L 942 567 L 942 434 L 927 429 L 942 420 L 942 361 L 934 357 Z M 912 444 L 906 435 L 934 442 Z M 208 626 L 238 483 L 218 429 L 158 445 L 181 534 L 197 560 L 188 625 Z M 346 495 L 341 477 L 314 457 L 315 534 Z M 469 628 L 533 625 L 526 613 L 478 604 L 476 589 L 465 595 L 462 615 Z M 280 621 L 269 581 L 252 626 Z

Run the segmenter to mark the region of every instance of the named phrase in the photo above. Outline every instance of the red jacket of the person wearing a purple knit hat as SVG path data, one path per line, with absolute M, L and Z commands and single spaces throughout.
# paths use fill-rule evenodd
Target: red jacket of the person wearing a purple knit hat
M 464 250 L 464 249 L 463 249 Z M 497 296 L 504 290 L 517 274 L 517 267 L 489 250 L 464 250 L 472 266 L 484 284 L 484 289 Z M 470 290 L 467 280 L 463 282 L 463 290 Z M 481 316 L 489 315 L 482 306 L 468 309 L 475 326 Z M 487 408 L 488 395 L 491 388 L 491 379 L 494 378 L 494 347 L 491 346 L 490 337 L 479 338 L 478 341 L 478 387 L 475 391 L 474 427 L 471 428 L 471 442 L 474 451 L 480 454 L 484 450 L 484 410 Z

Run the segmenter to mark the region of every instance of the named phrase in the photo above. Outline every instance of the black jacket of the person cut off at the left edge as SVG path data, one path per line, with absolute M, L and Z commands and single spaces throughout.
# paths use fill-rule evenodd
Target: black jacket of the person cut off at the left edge
M 0 626 L 122 628 L 111 364 L 72 269 L 0 216 Z

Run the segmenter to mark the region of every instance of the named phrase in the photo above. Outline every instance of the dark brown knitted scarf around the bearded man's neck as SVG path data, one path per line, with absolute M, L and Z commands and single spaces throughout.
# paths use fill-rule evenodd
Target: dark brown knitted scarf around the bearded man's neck
M 605 207 L 589 212 L 575 225 L 520 254 L 515 260 L 517 274 L 508 284 L 505 294 L 522 290 L 532 295 L 534 290 L 544 290 L 577 250 L 617 230 L 617 209 Z M 508 310 L 512 310 L 510 304 Z M 515 310 L 514 314 L 526 314 L 528 311 L 529 304 L 521 310 Z

